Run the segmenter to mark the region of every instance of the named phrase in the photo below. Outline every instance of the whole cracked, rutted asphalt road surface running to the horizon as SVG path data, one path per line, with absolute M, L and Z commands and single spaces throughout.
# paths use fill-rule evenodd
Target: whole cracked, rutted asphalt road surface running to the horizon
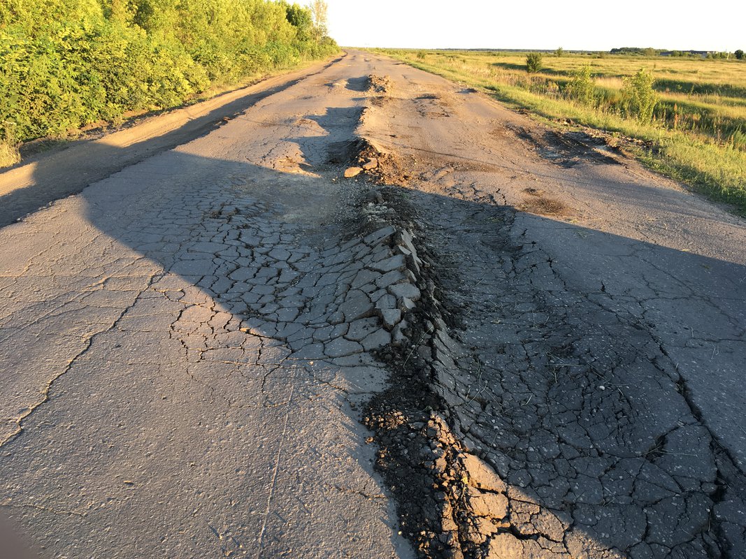
M 746 556 L 744 221 L 594 139 L 351 52 L 0 239 L 49 557 Z

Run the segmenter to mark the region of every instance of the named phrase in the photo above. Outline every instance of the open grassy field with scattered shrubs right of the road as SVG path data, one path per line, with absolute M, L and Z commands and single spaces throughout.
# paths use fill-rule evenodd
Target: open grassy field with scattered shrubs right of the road
M 746 215 L 746 63 L 740 60 L 545 54 L 529 74 L 526 53 L 377 52 L 545 119 L 609 133 L 610 142 L 624 144 L 648 167 Z M 646 76 L 653 79 L 647 90 Z M 649 116 L 641 94 L 655 101 Z

